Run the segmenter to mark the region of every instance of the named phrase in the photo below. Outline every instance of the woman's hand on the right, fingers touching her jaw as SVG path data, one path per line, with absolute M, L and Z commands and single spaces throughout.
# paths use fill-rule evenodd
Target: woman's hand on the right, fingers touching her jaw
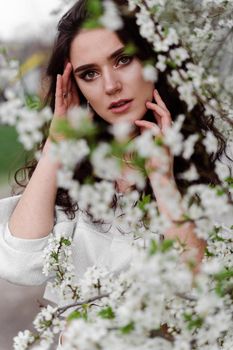
M 158 91 L 155 89 L 153 93 L 155 102 L 146 102 L 146 107 L 150 110 L 152 110 L 153 115 L 155 117 L 156 123 L 149 122 L 147 120 L 136 120 L 135 124 L 139 126 L 142 130 L 148 130 L 152 129 L 155 132 L 155 135 L 157 137 L 163 136 L 166 129 L 170 128 L 172 125 L 172 118 L 171 113 L 167 109 L 165 103 L 163 102 L 162 98 L 160 97 Z M 166 166 L 166 173 L 164 174 L 168 179 L 174 179 L 173 176 L 173 156 L 170 153 L 170 150 L 167 146 L 163 146 L 163 150 L 165 151 L 166 158 L 167 158 L 167 166 Z M 158 171 L 162 170 L 164 168 L 164 164 L 162 162 L 164 159 L 149 159 L 146 163 L 146 167 L 149 172 L 151 171 Z

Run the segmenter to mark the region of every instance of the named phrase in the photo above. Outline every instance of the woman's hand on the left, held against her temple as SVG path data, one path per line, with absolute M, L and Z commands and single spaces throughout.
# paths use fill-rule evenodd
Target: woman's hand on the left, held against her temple
M 66 119 L 69 108 L 80 104 L 75 83 L 71 79 L 71 72 L 72 65 L 67 62 L 64 73 L 57 75 L 55 110 L 49 129 L 49 139 L 58 142 L 64 139 L 64 135 L 56 132 L 56 122 L 60 119 Z

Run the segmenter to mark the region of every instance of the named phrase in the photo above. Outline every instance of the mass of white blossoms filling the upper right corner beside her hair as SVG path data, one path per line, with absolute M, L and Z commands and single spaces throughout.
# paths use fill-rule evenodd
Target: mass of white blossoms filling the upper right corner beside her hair
M 219 69 L 222 68 L 220 65 L 224 65 L 224 53 L 226 56 L 229 47 L 229 41 L 224 42 L 226 29 L 229 30 L 229 35 L 226 37 L 229 37 L 229 40 L 232 37 L 230 32 L 232 20 L 227 20 L 232 13 L 232 3 L 226 1 L 224 5 L 223 2 L 221 4 L 211 2 L 211 4 L 213 7 L 208 8 L 204 5 L 204 1 L 190 2 L 186 6 L 182 1 L 129 1 L 129 8 L 138 9 L 136 17 L 140 33 L 153 44 L 158 53 L 156 69 L 163 72 L 167 66 L 172 68 L 168 80 L 173 87 L 177 88 L 180 98 L 186 102 L 188 109 L 192 110 L 198 101 L 205 102 L 204 113 L 207 116 L 209 113 L 213 114 L 216 125 L 221 128 L 221 131 L 225 130 L 229 137 L 229 125 L 228 128 L 226 125 L 223 126 L 220 120 L 223 110 L 227 110 L 226 114 L 229 115 L 229 109 L 232 106 L 232 90 L 228 89 L 228 94 L 226 94 L 227 89 L 223 88 L 226 77 L 228 77 L 228 86 L 231 86 L 232 80 L 226 73 L 223 75 L 224 79 L 223 77 L 219 79 Z M 218 6 L 223 6 L 221 11 Z M 211 22 L 213 9 L 219 12 L 218 20 L 215 17 L 215 22 Z M 179 13 L 177 17 L 173 15 L 176 12 Z M 195 13 L 197 13 L 196 16 Z M 167 18 L 172 18 L 172 21 L 167 21 Z M 201 26 L 197 26 L 198 22 Z M 222 27 L 225 30 L 222 30 Z M 223 40 L 225 51 L 222 50 L 222 47 L 221 50 L 217 50 L 219 37 Z M 178 47 L 172 48 L 173 45 Z M 209 51 L 206 49 L 207 46 L 210 47 Z M 190 51 L 192 56 L 197 57 L 198 64 L 191 63 Z M 214 53 L 208 56 L 208 52 Z M 212 67 L 210 60 L 215 60 L 215 56 L 219 53 L 218 63 Z M 227 57 L 230 61 L 229 55 Z M 211 106 L 209 91 L 217 94 L 218 101 L 222 103 L 215 103 Z

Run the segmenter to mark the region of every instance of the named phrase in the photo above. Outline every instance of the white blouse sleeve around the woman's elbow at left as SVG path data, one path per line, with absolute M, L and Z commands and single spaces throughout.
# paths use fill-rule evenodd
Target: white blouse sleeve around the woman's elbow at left
M 39 285 L 46 281 L 42 273 L 43 250 L 48 236 L 40 239 L 14 237 L 8 221 L 20 196 L 0 200 L 0 278 L 20 285 Z M 74 223 L 60 221 L 55 231 L 73 233 Z

